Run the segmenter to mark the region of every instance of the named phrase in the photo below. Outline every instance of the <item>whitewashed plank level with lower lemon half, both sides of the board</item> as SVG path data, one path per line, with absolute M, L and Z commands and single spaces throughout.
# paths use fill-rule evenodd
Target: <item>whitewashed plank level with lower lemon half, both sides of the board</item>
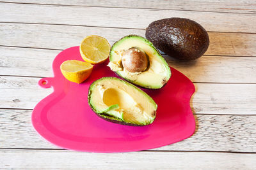
M 59 52 L 0 46 L 0 75 L 52 76 L 52 61 Z M 182 62 L 163 56 L 171 67 L 193 82 L 256 83 L 256 74 L 253 74 L 256 73 L 256 57 L 203 56 L 195 61 Z

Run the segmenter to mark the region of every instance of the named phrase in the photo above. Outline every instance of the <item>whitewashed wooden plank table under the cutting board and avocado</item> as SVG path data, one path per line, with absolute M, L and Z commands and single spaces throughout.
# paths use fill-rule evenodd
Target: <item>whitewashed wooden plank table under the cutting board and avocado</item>
M 191 108 L 196 132 L 173 145 L 130 153 L 63 150 L 39 136 L 31 112 L 52 89 L 61 50 L 98 34 L 111 45 L 128 34 L 145 36 L 161 18 L 195 20 L 210 46 L 191 62 L 163 55 L 196 87 Z M 256 169 L 255 1 L 0 2 L 0 169 Z

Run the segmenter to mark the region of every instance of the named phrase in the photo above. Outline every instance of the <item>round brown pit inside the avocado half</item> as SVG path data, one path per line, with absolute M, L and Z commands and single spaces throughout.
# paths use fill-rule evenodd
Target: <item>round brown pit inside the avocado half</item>
M 138 47 L 132 47 L 123 53 L 122 64 L 131 73 L 142 72 L 147 69 L 148 58 L 146 53 Z

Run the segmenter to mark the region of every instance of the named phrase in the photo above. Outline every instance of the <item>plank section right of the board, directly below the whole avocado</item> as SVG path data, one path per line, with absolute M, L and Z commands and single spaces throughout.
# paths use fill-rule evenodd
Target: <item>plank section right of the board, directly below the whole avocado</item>
M 193 82 L 255 83 L 256 57 L 203 56 L 184 62 L 164 55 L 169 66 L 178 69 Z

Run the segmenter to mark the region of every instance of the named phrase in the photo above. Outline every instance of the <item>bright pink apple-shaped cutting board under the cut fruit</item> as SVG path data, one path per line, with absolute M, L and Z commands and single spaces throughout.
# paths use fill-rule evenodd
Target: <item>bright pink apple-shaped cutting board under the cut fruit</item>
M 189 106 L 195 92 L 184 74 L 171 68 L 170 81 L 159 90 L 145 90 L 156 101 L 157 116 L 151 125 L 132 127 L 107 122 L 90 109 L 88 87 L 104 76 L 116 76 L 104 62 L 93 67 L 81 84 L 64 78 L 60 65 L 65 60 L 83 60 L 79 46 L 59 53 L 52 64 L 54 77 L 42 78 L 38 85 L 53 92 L 36 104 L 32 123 L 47 141 L 68 150 L 84 152 L 132 152 L 148 150 L 188 138 L 195 131 L 195 118 Z

